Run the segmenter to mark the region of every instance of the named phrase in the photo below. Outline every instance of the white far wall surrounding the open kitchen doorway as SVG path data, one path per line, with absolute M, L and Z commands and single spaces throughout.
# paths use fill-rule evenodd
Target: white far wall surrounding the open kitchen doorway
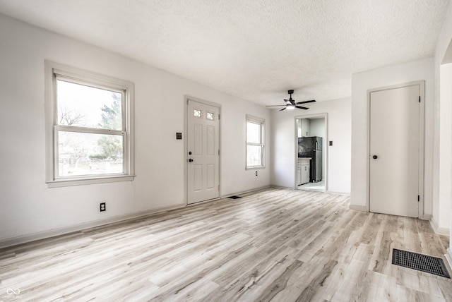
M 309 110 L 285 110 L 272 112 L 272 169 L 274 186 L 295 187 L 295 117 L 312 114 L 328 114 L 327 135 L 333 140 L 328 147 L 328 171 L 326 191 L 350 193 L 350 98 L 309 104 Z M 324 144 L 325 145 L 325 144 Z M 323 148 L 325 149 L 325 147 Z

